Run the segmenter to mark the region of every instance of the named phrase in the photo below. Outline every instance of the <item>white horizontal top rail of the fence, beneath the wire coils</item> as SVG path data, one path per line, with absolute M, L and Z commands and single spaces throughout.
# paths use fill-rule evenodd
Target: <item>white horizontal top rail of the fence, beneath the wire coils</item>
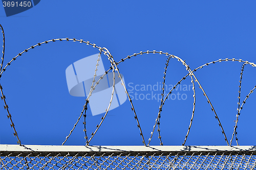
M 144 146 L 144 145 L 113 145 L 113 146 L 93 146 L 93 145 L 18 145 L 18 144 L 0 144 L 0 153 L 254 153 L 256 154 L 256 146 L 239 145 L 239 146 L 223 146 L 223 145 L 163 145 L 163 146 Z M 253 154 L 253 155 L 254 155 Z

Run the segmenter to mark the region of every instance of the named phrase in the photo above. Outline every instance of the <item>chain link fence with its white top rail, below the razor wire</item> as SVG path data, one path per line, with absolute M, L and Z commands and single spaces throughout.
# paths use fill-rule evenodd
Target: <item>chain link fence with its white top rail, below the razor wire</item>
M 1 169 L 256 169 L 253 146 L 2 144 L 1 148 Z

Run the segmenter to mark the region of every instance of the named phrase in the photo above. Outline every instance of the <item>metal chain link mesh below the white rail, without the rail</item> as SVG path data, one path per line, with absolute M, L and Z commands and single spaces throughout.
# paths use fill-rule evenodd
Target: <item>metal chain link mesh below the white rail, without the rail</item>
M 1 169 L 256 169 L 256 152 L 1 152 Z

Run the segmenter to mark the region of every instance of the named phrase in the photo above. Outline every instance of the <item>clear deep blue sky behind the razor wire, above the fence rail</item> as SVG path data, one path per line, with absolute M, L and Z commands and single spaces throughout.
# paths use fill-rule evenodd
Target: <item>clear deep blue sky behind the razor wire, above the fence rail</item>
M 31 45 L 54 38 L 83 39 L 106 47 L 115 61 L 140 51 L 156 50 L 186 60 L 191 69 L 224 58 L 256 62 L 255 5 L 254 1 L 41 1 L 10 17 L 6 17 L 4 8 L 0 7 L 0 23 L 6 38 L 4 66 Z M 18 57 L 7 68 L 1 85 L 22 144 L 60 145 L 65 140 L 85 102 L 85 98 L 69 94 L 65 70 L 75 61 L 96 53 L 97 49 L 85 43 L 51 42 Z M 105 68 L 110 67 L 103 55 L 102 61 Z M 165 55 L 147 54 L 120 63 L 118 67 L 127 89 L 135 93 L 132 90 L 135 85 L 159 85 L 165 63 Z M 237 114 L 241 66 L 239 62 L 221 62 L 195 72 L 228 141 Z M 254 67 L 245 66 L 242 101 L 256 85 L 254 73 Z M 186 74 L 180 62 L 170 59 L 166 85 L 175 85 Z M 177 96 L 163 106 L 160 128 L 164 145 L 181 145 L 185 138 L 193 109 L 193 90 L 184 87 L 190 84 L 187 78 L 181 83 L 182 89 L 174 92 L 184 94 L 185 100 L 178 100 Z M 161 93 L 141 89 L 137 92 Z M 252 93 L 241 111 L 237 129 L 240 145 L 255 145 L 255 100 Z M 133 103 L 147 141 L 160 103 L 153 98 L 133 99 Z M 0 107 L 0 113 L 0 142 L 15 144 L 4 107 Z M 102 115 L 92 116 L 88 110 L 89 136 Z M 80 120 L 66 144 L 84 143 Z M 128 100 L 108 113 L 90 144 L 142 144 Z M 159 145 L 157 131 L 151 144 Z M 197 84 L 195 116 L 186 145 L 226 145 L 214 112 Z

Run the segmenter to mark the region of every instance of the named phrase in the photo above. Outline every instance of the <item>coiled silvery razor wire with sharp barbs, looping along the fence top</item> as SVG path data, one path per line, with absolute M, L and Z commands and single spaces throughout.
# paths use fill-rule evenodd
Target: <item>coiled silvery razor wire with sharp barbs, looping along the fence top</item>
M 101 53 L 103 53 L 106 57 L 108 57 L 108 60 L 109 60 L 110 63 L 111 63 L 111 67 L 110 67 L 107 71 L 105 71 L 105 73 L 99 78 L 99 80 L 98 80 L 97 82 L 95 82 L 96 72 L 97 72 L 97 64 L 98 64 L 98 60 L 99 60 L 99 57 L 98 57 L 97 64 L 96 64 L 96 68 L 95 68 L 95 74 L 94 74 L 94 78 L 93 78 L 93 82 L 92 82 L 92 86 L 91 86 L 91 89 L 90 89 L 90 93 L 89 93 L 89 95 L 88 95 L 88 98 L 86 99 L 86 103 L 83 105 L 83 109 L 82 109 L 82 111 L 81 111 L 81 114 L 80 114 L 80 116 L 78 117 L 77 122 L 75 123 L 73 129 L 70 131 L 69 135 L 66 137 L 66 140 L 62 143 L 62 145 L 65 144 L 65 142 L 68 140 L 69 136 L 72 134 L 73 130 L 75 129 L 75 127 L 76 127 L 76 125 L 78 124 L 78 122 L 79 122 L 79 120 L 80 120 L 80 118 L 81 118 L 82 115 L 84 116 L 84 122 L 83 122 L 83 124 L 84 124 L 84 133 L 85 133 L 85 137 L 84 137 L 84 138 L 86 139 L 86 144 L 89 145 L 89 142 L 92 140 L 92 138 L 94 137 L 94 135 L 96 134 L 96 132 L 97 132 L 98 129 L 100 128 L 101 124 L 103 123 L 104 118 L 106 117 L 107 113 L 108 113 L 109 110 L 110 110 L 110 106 L 111 106 L 111 103 L 112 103 L 112 100 L 113 100 L 113 95 L 114 95 L 114 90 L 115 90 L 115 79 L 116 79 L 116 78 L 115 78 L 115 72 L 117 72 L 118 78 L 121 80 L 121 84 L 123 85 L 124 90 L 125 90 L 125 93 L 127 94 L 128 98 L 129 98 L 129 101 L 130 101 L 130 103 L 131 103 L 131 109 L 132 109 L 132 111 L 134 112 L 134 115 L 135 115 L 134 118 L 135 118 L 135 120 L 136 120 L 136 122 L 137 122 L 137 126 L 138 126 L 138 128 L 139 128 L 140 135 L 141 135 L 141 137 L 142 137 L 142 143 L 143 143 L 144 145 L 146 145 L 145 140 L 144 140 L 144 136 L 143 136 L 143 133 L 142 133 L 142 130 L 141 130 L 141 126 L 140 126 L 140 124 L 139 124 L 139 119 L 138 119 L 137 113 L 136 113 L 135 108 L 134 108 L 134 105 L 133 105 L 133 102 L 132 102 L 132 100 L 131 100 L 131 98 L 130 98 L 129 93 L 127 92 L 127 89 L 126 89 L 126 87 L 125 87 L 125 84 L 124 84 L 124 82 L 122 81 L 122 78 L 121 78 L 121 74 L 120 74 L 120 72 L 119 72 L 119 69 L 118 69 L 118 67 L 117 67 L 120 63 L 126 61 L 127 59 L 131 59 L 131 58 L 134 58 L 134 57 L 136 57 L 136 56 L 143 55 L 143 54 L 160 54 L 160 55 L 165 55 L 165 56 L 167 56 L 167 60 L 166 60 L 166 64 L 165 64 L 166 66 L 164 67 L 164 77 L 163 77 L 163 88 L 162 88 L 162 94 L 161 94 L 161 95 L 162 95 L 161 104 L 160 104 L 160 107 L 159 107 L 159 112 L 158 112 L 158 114 L 157 114 L 157 118 L 156 118 L 156 120 L 155 120 L 155 125 L 153 126 L 153 131 L 151 132 L 150 138 L 148 139 L 148 145 L 150 144 L 150 141 L 151 141 L 151 139 L 152 139 L 153 133 L 154 133 L 155 128 L 156 128 L 156 125 L 158 126 L 158 130 L 157 130 L 157 131 L 158 131 L 158 138 L 159 138 L 159 140 L 160 140 L 160 145 L 163 145 L 163 142 L 162 142 L 162 139 L 161 139 L 162 137 L 161 137 L 161 135 L 160 135 L 160 117 L 161 117 L 161 112 L 162 112 L 162 109 L 163 109 L 163 105 L 164 105 L 166 99 L 168 98 L 168 96 L 172 93 L 172 91 L 173 91 L 183 80 L 185 80 L 187 76 L 189 76 L 189 77 L 191 78 L 191 84 L 193 84 L 193 92 L 194 92 L 194 94 L 193 94 L 193 99 L 194 99 L 194 102 L 193 102 L 193 111 L 192 111 L 190 123 L 189 123 L 188 130 L 187 130 L 187 133 L 186 133 L 186 136 L 185 136 L 185 139 L 184 139 L 184 142 L 182 143 L 182 145 L 185 145 L 185 142 L 186 142 L 186 140 L 187 140 L 187 137 L 188 137 L 188 134 L 189 134 L 189 131 L 190 131 L 192 122 L 193 122 L 194 113 L 195 113 L 196 92 L 195 92 L 195 84 L 194 84 L 194 81 L 199 85 L 199 88 L 202 90 L 203 95 L 205 95 L 208 104 L 210 104 L 211 110 L 212 110 L 212 111 L 214 112 L 214 114 L 215 114 L 215 118 L 216 118 L 217 121 L 218 121 L 218 124 L 219 124 L 219 126 L 220 126 L 220 128 L 221 128 L 221 132 L 222 132 L 223 135 L 224 135 L 224 139 L 225 139 L 225 141 L 227 142 L 227 145 L 231 145 L 231 144 L 232 144 L 232 140 L 233 140 L 233 136 L 234 136 L 234 135 L 236 136 L 236 141 L 237 141 L 237 145 L 238 145 L 238 138 L 237 138 L 237 123 L 238 123 L 238 117 L 239 117 L 239 115 L 241 114 L 240 112 L 241 112 L 241 110 L 243 109 L 243 106 L 244 106 L 246 100 L 248 99 L 249 95 L 250 95 L 250 94 L 253 92 L 253 90 L 256 88 L 256 86 L 255 86 L 254 88 L 252 88 L 252 90 L 250 90 L 249 94 L 246 95 L 246 98 L 244 99 L 244 101 L 242 102 L 242 104 L 241 104 L 241 106 L 240 106 L 241 82 L 242 82 L 242 75 L 243 75 L 244 66 L 245 66 L 246 64 L 249 64 L 249 65 L 255 67 L 256 65 L 255 65 L 254 63 L 252 63 L 252 62 L 244 61 L 244 60 L 242 60 L 242 59 L 234 59 L 234 58 L 228 59 L 228 58 L 225 58 L 225 59 L 219 59 L 219 60 L 216 60 L 216 61 L 212 61 L 212 62 L 206 63 L 206 64 L 204 64 L 204 65 L 201 65 L 201 66 L 197 67 L 197 68 L 194 69 L 194 70 L 191 70 L 190 67 L 189 67 L 189 65 L 186 64 L 185 60 L 183 61 L 181 58 L 179 58 L 179 57 L 177 57 L 177 56 L 170 55 L 170 54 L 165 53 L 165 52 L 162 52 L 162 51 L 155 51 L 155 50 L 153 50 L 153 51 L 145 51 L 145 52 L 142 52 L 142 51 L 141 51 L 141 52 L 139 52 L 139 53 L 134 53 L 133 55 L 127 56 L 126 58 L 121 59 L 119 62 L 116 62 L 116 61 L 114 60 L 113 56 L 111 55 L 111 53 L 109 52 L 109 50 L 108 50 L 107 48 L 105 48 L 105 47 L 97 46 L 96 44 L 91 43 L 90 41 L 83 41 L 82 39 L 75 39 L 75 38 L 58 38 L 58 39 L 47 40 L 47 41 L 44 41 L 44 42 L 39 42 L 39 43 L 37 43 L 37 44 L 35 44 L 35 45 L 30 46 L 29 48 L 27 48 L 26 50 L 24 50 L 23 52 L 19 53 L 19 54 L 16 55 L 14 58 L 12 58 L 11 61 L 9 61 L 9 62 L 6 64 L 6 66 L 3 68 L 4 55 L 5 55 L 5 34 L 4 34 L 4 29 L 3 29 L 3 27 L 2 27 L 1 25 L 0 25 L 0 29 L 2 30 L 2 33 L 3 33 L 3 56 L 2 56 L 2 63 L 1 63 L 1 67 L 0 67 L 0 78 L 3 76 L 3 73 L 6 71 L 7 67 L 10 66 L 11 63 L 12 63 L 13 61 L 15 61 L 19 56 L 22 56 L 24 53 L 29 52 L 30 50 L 34 49 L 34 48 L 37 47 L 37 46 L 41 46 L 42 44 L 47 44 L 47 43 L 49 43 L 49 42 L 56 42 L 56 41 L 73 41 L 73 42 L 86 43 L 87 45 L 90 45 L 90 46 L 92 46 L 92 47 L 94 47 L 94 48 L 98 48 L 98 50 L 100 51 L 99 57 L 100 57 L 100 54 L 101 54 Z M 181 62 L 182 65 L 184 65 L 185 68 L 186 68 L 186 70 L 188 71 L 188 74 L 187 74 L 186 76 L 184 76 L 184 77 L 168 92 L 168 94 L 167 94 L 167 95 L 165 96 L 165 98 L 164 98 L 165 76 L 166 76 L 167 66 L 168 66 L 169 60 L 170 60 L 171 58 L 177 59 L 179 62 Z M 237 113 L 237 115 L 236 115 L 236 120 L 234 121 L 234 122 L 236 123 L 236 125 L 234 126 L 234 130 L 233 130 L 233 133 L 232 133 L 232 137 L 231 137 L 230 142 L 228 142 L 228 140 L 227 140 L 226 134 L 225 134 L 225 132 L 224 132 L 224 129 L 223 129 L 223 127 L 222 127 L 222 124 L 221 124 L 221 122 L 220 122 L 220 119 L 219 119 L 219 117 L 218 117 L 218 115 L 217 115 L 217 113 L 216 113 L 216 111 L 215 111 L 215 109 L 214 109 L 214 106 L 211 104 L 211 102 L 210 102 L 210 100 L 209 100 L 209 98 L 208 98 L 206 92 L 204 91 L 203 87 L 201 86 L 201 84 L 199 83 L 198 79 L 196 78 L 196 76 L 195 76 L 195 74 L 194 74 L 194 72 L 197 71 L 199 68 L 201 69 L 201 68 L 203 68 L 204 66 L 208 66 L 208 65 L 210 65 L 210 64 L 215 64 L 215 63 L 222 62 L 222 61 L 237 61 L 237 62 L 242 62 L 242 63 L 244 63 L 243 66 L 242 66 L 242 69 L 241 69 L 241 76 L 240 76 L 240 81 L 239 81 L 239 82 L 240 82 L 240 86 L 239 86 L 238 113 Z M 113 73 L 113 86 L 112 86 L 111 100 L 110 100 L 110 103 L 109 103 L 108 108 L 106 108 L 106 110 L 105 110 L 104 116 L 101 117 L 100 123 L 96 126 L 96 130 L 95 130 L 94 132 L 92 132 L 91 137 L 88 139 L 87 129 L 86 129 L 86 111 L 87 111 L 87 109 L 88 109 L 88 104 L 89 104 L 89 101 L 90 101 L 90 96 L 92 95 L 92 92 L 93 92 L 93 90 L 95 89 L 95 87 L 99 84 L 100 80 L 103 79 L 103 77 L 104 77 L 106 74 L 108 74 L 108 72 L 109 72 L 110 70 L 112 70 L 112 73 Z M 94 84 L 94 83 L 95 83 L 95 84 Z M 4 107 L 5 107 L 5 109 L 6 109 L 7 112 L 8 112 L 8 115 L 7 115 L 7 116 L 8 116 L 8 118 L 9 118 L 10 121 L 11 121 L 11 128 L 13 128 L 13 130 L 14 130 L 14 136 L 17 137 L 17 143 L 18 143 L 18 144 L 21 144 L 21 142 L 20 142 L 20 140 L 19 140 L 19 138 L 18 138 L 17 131 L 16 131 L 15 127 L 14 127 L 14 123 L 13 123 L 13 120 L 12 120 L 12 116 L 11 116 L 11 113 L 10 113 L 10 111 L 9 111 L 9 106 L 7 105 L 7 102 L 6 102 L 6 96 L 4 95 L 3 87 L 2 87 L 1 84 L 0 84 L 0 90 L 1 90 L 1 94 L 2 94 L 1 99 L 4 100 L 4 103 L 5 103 L 5 106 L 4 106 Z

